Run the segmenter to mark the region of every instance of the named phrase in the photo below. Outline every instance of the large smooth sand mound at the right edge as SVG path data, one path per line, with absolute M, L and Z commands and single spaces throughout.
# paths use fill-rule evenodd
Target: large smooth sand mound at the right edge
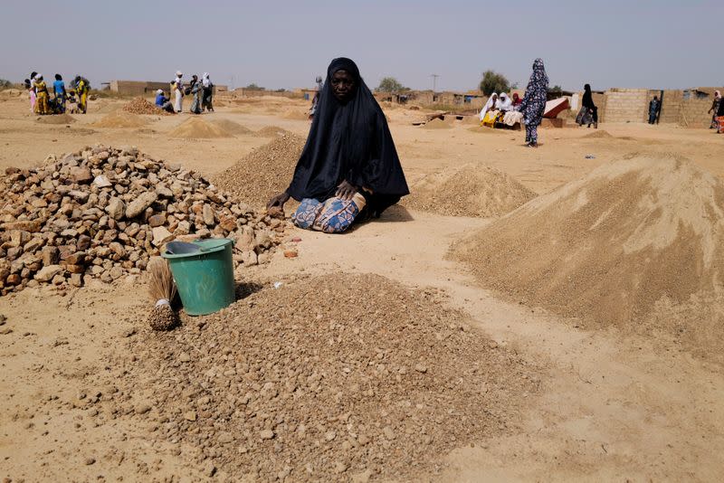
M 516 300 L 630 327 L 664 299 L 687 304 L 721 289 L 724 184 L 681 157 L 628 156 L 521 206 L 453 253 Z M 718 331 L 724 341 L 724 325 Z

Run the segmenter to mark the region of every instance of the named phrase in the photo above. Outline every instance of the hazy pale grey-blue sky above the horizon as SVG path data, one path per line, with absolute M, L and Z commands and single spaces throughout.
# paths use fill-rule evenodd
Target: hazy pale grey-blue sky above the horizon
M 310 86 L 338 56 L 372 88 L 477 87 L 492 69 L 521 87 L 536 57 L 551 85 L 724 84 L 724 3 L 713 1 L 34 0 L 0 4 L 0 78 L 60 72 L 100 82 L 211 72 L 217 84 Z M 232 81 L 233 78 L 233 81 Z

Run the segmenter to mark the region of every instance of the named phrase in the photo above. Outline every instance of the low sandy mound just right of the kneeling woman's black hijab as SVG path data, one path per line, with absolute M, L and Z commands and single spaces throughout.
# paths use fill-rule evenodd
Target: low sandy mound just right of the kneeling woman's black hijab
M 414 210 L 453 216 L 501 216 L 536 194 L 490 166 L 469 164 L 427 175 L 403 198 Z

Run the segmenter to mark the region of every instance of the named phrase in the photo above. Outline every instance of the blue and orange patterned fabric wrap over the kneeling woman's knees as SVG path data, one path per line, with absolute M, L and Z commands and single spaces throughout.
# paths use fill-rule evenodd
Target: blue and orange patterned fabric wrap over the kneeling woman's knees
M 292 218 L 294 224 L 305 230 L 341 233 L 348 230 L 364 207 L 365 197 L 359 193 L 348 201 L 337 196 L 329 198 L 324 203 L 305 198 Z

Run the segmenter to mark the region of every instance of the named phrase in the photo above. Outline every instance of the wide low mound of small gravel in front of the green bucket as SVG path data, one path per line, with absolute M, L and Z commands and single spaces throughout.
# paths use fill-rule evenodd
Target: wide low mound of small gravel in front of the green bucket
M 454 448 L 518 431 L 537 391 L 537 367 L 376 275 L 285 280 L 126 340 L 135 362 L 109 361 L 123 371 L 109 383 L 124 407 L 172 421 L 149 438 L 242 481 L 414 481 Z M 148 424 L 138 410 L 118 417 Z

